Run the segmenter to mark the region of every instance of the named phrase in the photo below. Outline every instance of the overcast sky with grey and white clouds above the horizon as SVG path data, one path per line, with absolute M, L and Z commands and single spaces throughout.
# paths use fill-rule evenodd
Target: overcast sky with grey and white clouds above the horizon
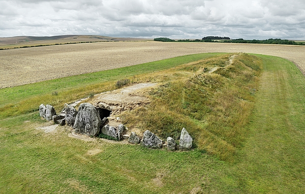
M 304 0 L 0 0 L 0 37 L 305 40 Z

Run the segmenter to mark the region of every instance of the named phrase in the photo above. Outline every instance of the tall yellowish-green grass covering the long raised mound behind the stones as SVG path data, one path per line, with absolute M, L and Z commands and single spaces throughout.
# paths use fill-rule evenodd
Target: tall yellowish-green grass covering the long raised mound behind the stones
M 255 56 L 238 54 L 228 66 L 225 61 L 229 57 L 192 62 L 150 75 L 152 80 L 164 82 L 150 91 L 151 104 L 121 117 L 127 125 L 149 130 L 163 139 L 171 136 L 178 140 L 185 127 L 195 147 L 231 160 L 247 133 L 244 126 L 254 105 L 262 64 Z

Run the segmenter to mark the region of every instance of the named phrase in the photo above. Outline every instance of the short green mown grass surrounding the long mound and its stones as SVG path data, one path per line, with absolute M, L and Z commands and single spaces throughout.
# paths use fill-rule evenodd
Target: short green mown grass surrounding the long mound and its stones
M 218 57 L 219 66 L 222 57 L 231 55 L 210 53 L 169 61 L 171 67 L 183 67 L 212 56 Z M 156 74 L 151 73 L 155 68 L 169 71 L 167 60 L 154 67 L 142 64 L 138 72 L 114 70 L 109 78 L 88 74 L 0 89 L 5 99 L 0 111 L 0 193 L 303 193 L 305 78 L 283 58 L 255 56 L 262 72 L 252 93 L 249 122 L 242 125 L 246 136 L 238 140 L 233 160 L 222 160 L 206 149 L 170 152 L 100 139 L 82 141 L 69 138 L 67 127 L 49 134 L 36 130 L 46 124 L 37 112 L 40 103 L 55 104 L 58 110 L 65 101 L 97 92 L 91 84 L 111 89 L 115 80 L 134 74 L 153 79 L 147 75 Z M 72 81 L 82 78 L 85 81 Z M 75 84 L 66 84 L 68 80 Z

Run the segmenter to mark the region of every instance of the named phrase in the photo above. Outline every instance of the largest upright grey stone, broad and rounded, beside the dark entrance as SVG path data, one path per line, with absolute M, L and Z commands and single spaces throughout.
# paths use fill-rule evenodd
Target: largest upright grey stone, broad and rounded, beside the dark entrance
M 90 103 L 82 103 L 75 117 L 75 132 L 87 136 L 97 136 L 100 132 L 101 118 L 96 108 Z

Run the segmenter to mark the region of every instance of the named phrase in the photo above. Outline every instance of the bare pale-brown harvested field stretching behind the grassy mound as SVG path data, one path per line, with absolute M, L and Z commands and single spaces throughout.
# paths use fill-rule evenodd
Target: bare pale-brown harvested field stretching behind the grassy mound
M 0 88 L 204 52 L 246 52 L 293 61 L 305 75 L 305 47 L 229 43 L 103 42 L 0 50 Z

